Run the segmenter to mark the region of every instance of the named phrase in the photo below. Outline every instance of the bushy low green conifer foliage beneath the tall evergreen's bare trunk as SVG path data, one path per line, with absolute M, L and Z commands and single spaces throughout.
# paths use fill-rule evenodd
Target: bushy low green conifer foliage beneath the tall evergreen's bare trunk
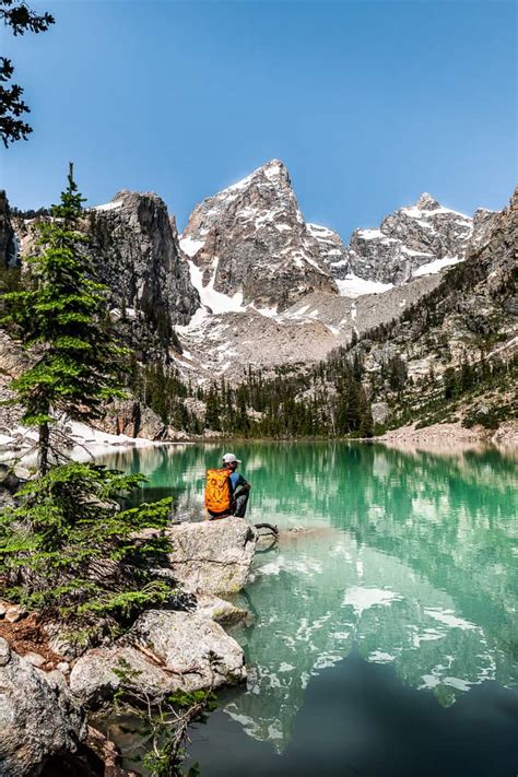
M 4 594 L 94 633 L 127 625 L 143 609 L 166 604 L 175 589 L 153 568 L 170 550 L 160 531 L 170 499 L 120 507 L 121 498 L 144 480 L 70 463 L 30 481 L 19 492 L 20 506 L 0 516 Z M 158 531 L 138 539 L 143 529 Z

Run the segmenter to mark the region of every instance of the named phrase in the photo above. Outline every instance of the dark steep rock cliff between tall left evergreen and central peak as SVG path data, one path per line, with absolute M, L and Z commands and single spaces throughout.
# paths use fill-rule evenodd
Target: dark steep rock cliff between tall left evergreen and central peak
M 167 351 L 175 345 L 174 325 L 187 323 L 200 298 L 164 201 L 122 190 L 90 209 L 87 217 L 96 271 L 110 290 L 110 304 L 138 322 L 138 346 Z

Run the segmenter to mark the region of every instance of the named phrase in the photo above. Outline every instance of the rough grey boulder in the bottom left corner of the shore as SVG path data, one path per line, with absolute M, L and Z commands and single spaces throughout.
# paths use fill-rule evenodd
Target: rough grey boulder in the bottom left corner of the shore
M 36 776 L 47 758 L 74 752 L 85 735 L 61 672 L 45 674 L 0 638 L 0 775 Z

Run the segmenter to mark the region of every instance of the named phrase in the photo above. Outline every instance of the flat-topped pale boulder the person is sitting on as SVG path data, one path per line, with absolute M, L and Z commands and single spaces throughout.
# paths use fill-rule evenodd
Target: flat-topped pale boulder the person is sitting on
M 257 531 L 243 518 L 181 523 L 170 527 L 168 535 L 170 567 L 189 590 L 225 594 L 245 587 Z

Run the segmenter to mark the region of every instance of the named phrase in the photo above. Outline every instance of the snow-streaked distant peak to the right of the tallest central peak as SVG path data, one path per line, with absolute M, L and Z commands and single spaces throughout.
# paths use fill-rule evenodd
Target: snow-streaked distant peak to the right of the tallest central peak
M 425 192 L 414 205 L 386 216 L 379 228 L 353 232 L 351 270 L 365 280 L 392 284 L 437 272 L 464 258 L 472 226 L 471 219 Z

